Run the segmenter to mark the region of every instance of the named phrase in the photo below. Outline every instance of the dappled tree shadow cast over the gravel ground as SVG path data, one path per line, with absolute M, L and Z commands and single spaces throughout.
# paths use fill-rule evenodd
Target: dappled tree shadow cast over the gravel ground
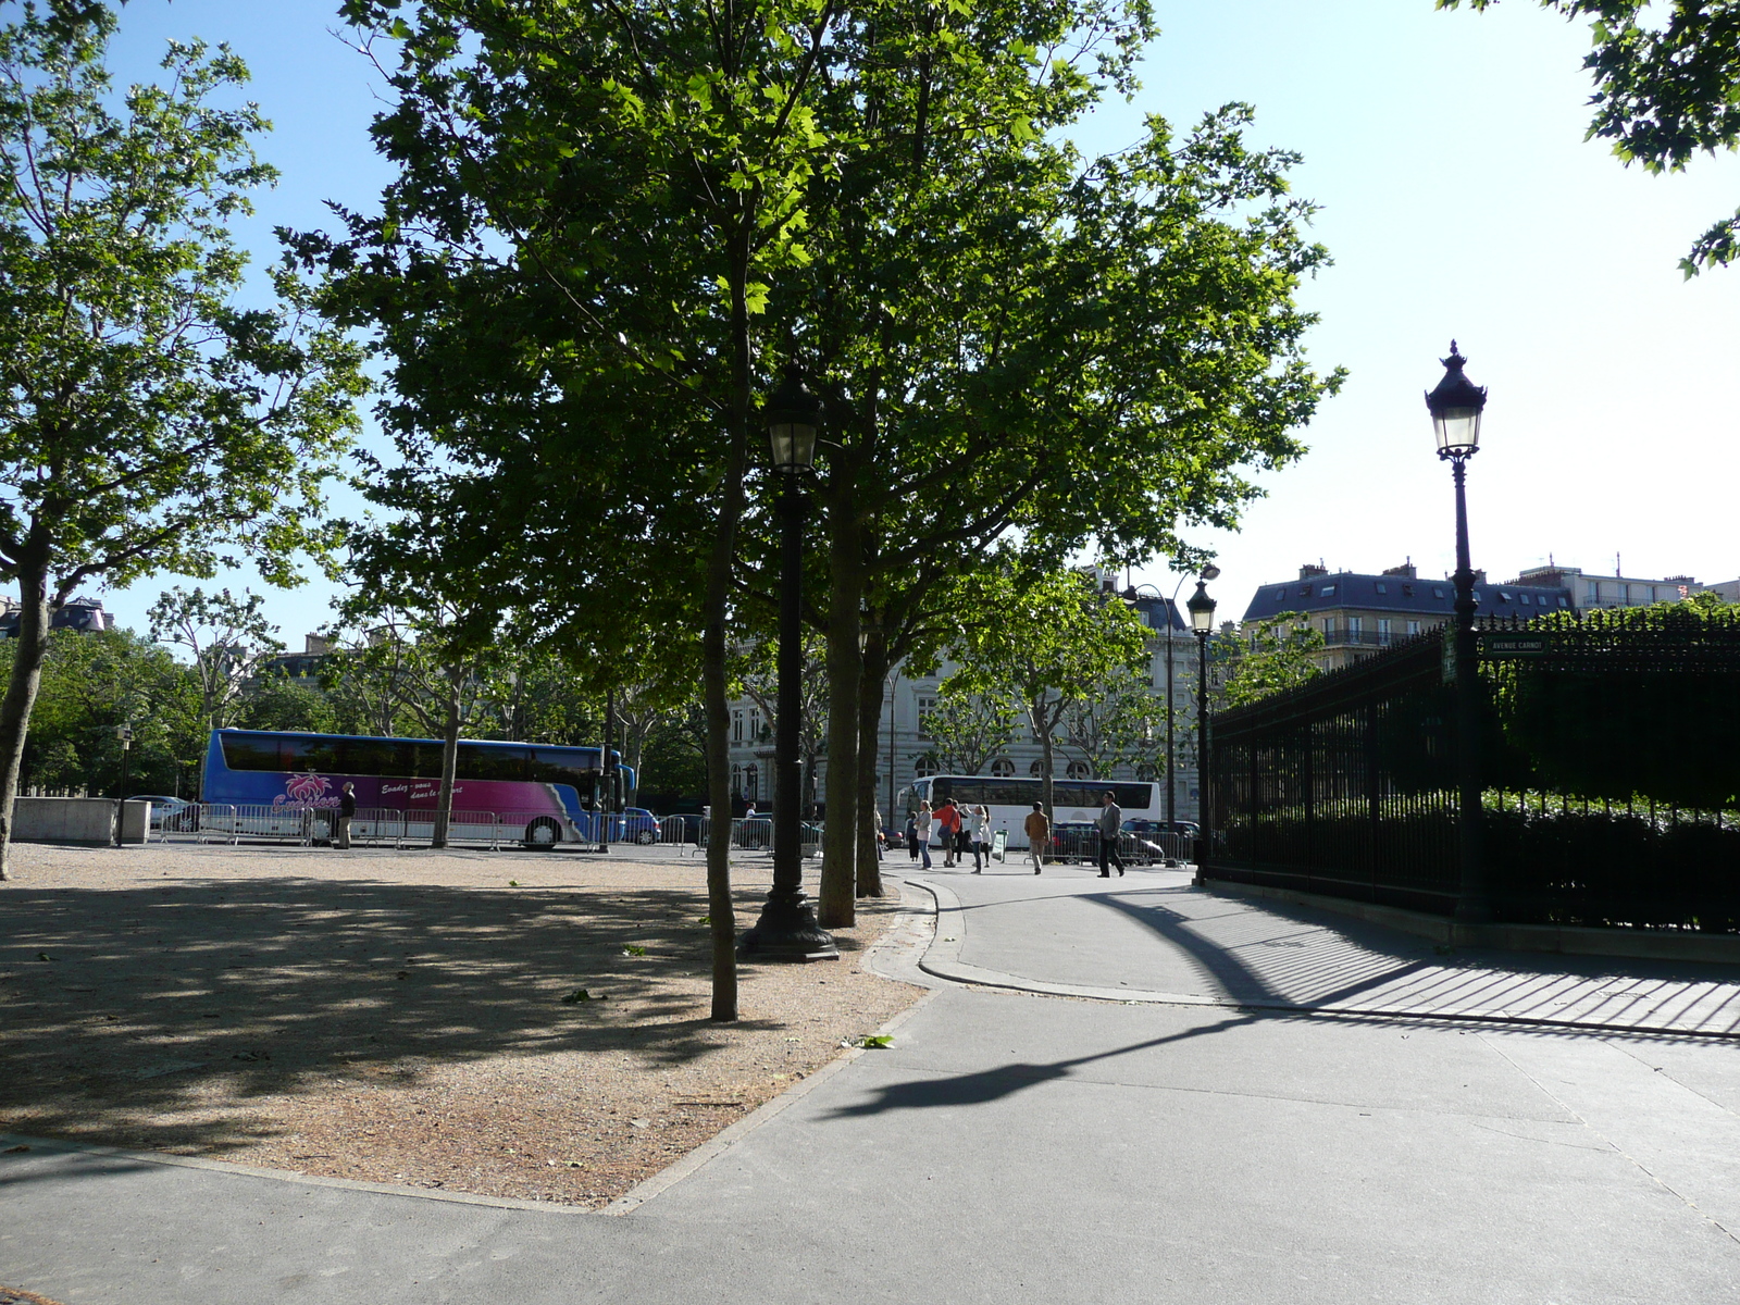
M 741 893 L 745 924 L 759 896 Z M 96 1115 L 155 1115 L 101 1131 L 205 1150 L 242 1131 L 209 1117 L 214 1098 L 414 1086 L 442 1065 L 562 1051 L 679 1067 L 731 1030 L 778 1027 L 706 1018 L 705 910 L 699 886 L 12 887 L 0 1119 L 28 1110 L 19 1131 L 89 1136 Z M 585 1000 L 562 1000 L 579 990 Z

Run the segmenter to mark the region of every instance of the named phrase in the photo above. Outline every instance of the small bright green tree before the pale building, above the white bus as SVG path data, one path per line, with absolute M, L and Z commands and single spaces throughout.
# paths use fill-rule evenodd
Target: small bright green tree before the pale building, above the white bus
M 992 590 L 999 619 L 969 626 L 947 687 L 1006 698 L 1039 743 L 1046 813 L 1063 720 L 1119 668 L 1147 659 L 1147 626 L 1121 600 L 1075 571 L 1021 583 L 1004 574 Z

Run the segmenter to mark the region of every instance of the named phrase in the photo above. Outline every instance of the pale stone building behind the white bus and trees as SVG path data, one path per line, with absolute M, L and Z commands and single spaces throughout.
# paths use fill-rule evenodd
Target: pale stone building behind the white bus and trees
M 1115 592 L 1110 581 L 1101 581 L 1108 592 Z M 1173 715 L 1176 771 L 1173 776 L 1173 800 L 1178 820 L 1197 818 L 1197 769 L 1195 769 L 1195 699 L 1197 699 L 1197 640 L 1190 633 L 1188 621 L 1181 619 L 1178 606 L 1162 597 L 1124 590 L 1122 597 L 1143 625 L 1148 626 L 1148 686 L 1162 703 L 1168 684 L 1168 647 L 1171 647 L 1171 686 L 1176 712 Z M 936 696 L 941 684 L 957 670 L 950 661 L 943 661 L 933 675 L 908 675 L 907 668 L 896 666 L 882 684 L 882 729 L 877 741 L 875 785 L 877 807 L 884 823 L 889 821 L 900 804 L 901 790 L 908 788 L 919 776 L 941 773 L 936 757 L 936 743 L 924 729 L 924 719 L 936 708 Z M 731 703 L 731 792 L 734 806 L 741 813 L 746 806 L 766 811 L 773 802 L 773 722 L 748 698 Z M 1133 767 L 1119 767 L 1112 774 L 1093 774 L 1088 762 L 1074 755 L 1061 741 L 1053 745 L 1053 767 L 1060 780 L 1159 780 L 1161 774 L 1136 774 Z M 985 767 L 997 776 L 1037 776 L 1041 773 L 1041 748 L 1034 741 L 1032 731 L 1023 719 L 1016 719 L 1014 738 Z M 826 759 L 820 759 L 814 774 L 806 774 L 806 786 L 816 795 L 816 811 L 826 793 Z M 1161 799 L 1164 802 L 1164 797 Z M 905 809 L 898 811 L 905 820 Z

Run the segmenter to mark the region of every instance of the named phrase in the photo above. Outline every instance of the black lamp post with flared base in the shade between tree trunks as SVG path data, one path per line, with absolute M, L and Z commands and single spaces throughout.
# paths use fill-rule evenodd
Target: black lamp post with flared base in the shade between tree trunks
M 799 807 L 804 774 L 799 731 L 804 712 L 804 498 L 802 478 L 816 458 L 821 400 L 804 388 L 793 362 L 762 405 L 773 468 L 780 480 L 780 686 L 773 766 L 773 889 L 755 927 L 738 940 L 738 955 L 762 960 L 839 960 L 839 948 L 804 900 L 804 849 Z

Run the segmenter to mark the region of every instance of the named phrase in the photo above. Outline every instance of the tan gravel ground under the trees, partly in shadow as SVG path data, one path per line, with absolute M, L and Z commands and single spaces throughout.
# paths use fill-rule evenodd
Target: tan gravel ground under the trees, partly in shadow
M 860 967 L 891 896 L 712 1023 L 705 867 L 659 849 L 12 856 L 12 1133 L 595 1208 L 922 995 Z M 767 858 L 733 880 L 746 927 Z

